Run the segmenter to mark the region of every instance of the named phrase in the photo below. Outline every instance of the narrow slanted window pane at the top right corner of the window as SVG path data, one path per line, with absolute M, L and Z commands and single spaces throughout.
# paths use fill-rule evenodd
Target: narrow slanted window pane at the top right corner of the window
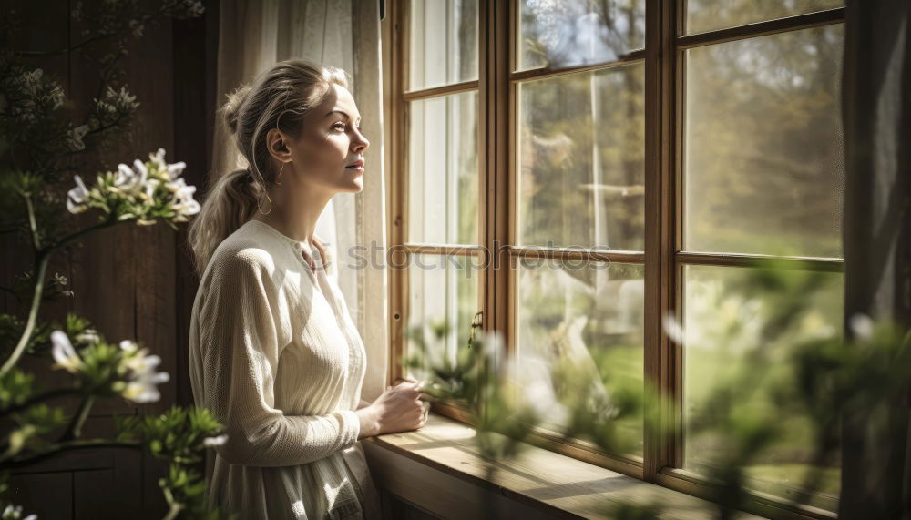
M 844 0 L 688 0 L 686 6 L 692 34 L 844 7 Z

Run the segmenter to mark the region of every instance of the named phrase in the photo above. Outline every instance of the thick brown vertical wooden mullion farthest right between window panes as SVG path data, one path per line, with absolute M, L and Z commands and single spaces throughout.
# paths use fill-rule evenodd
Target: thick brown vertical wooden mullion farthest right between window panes
M 645 104 L 645 480 L 667 465 L 676 465 L 681 451 L 681 355 L 662 327 L 663 317 L 678 306 L 674 251 L 679 207 L 677 178 L 678 60 L 674 49 L 677 25 L 675 0 L 646 3 Z M 658 419 L 657 422 L 650 419 Z M 663 432 L 663 433 L 662 433 Z

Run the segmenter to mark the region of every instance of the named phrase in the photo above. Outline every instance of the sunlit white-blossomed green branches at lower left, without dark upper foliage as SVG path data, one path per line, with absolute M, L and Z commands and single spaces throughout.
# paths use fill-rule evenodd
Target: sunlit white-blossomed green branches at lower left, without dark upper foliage
M 200 477 L 192 470 L 182 467 L 182 464 L 194 464 L 199 457 L 193 453 L 200 449 L 224 442 L 224 435 L 205 436 L 200 439 L 199 433 L 219 433 L 221 425 L 208 411 L 199 413 L 183 413 L 175 411 L 170 417 L 168 428 L 160 428 L 154 422 L 149 423 L 118 423 L 117 441 L 97 439 L 91 442 L 81 441 L 82 426 L 86 422 L 93 404 L 99 398 L 119 395 L 135 403 L 148 403 L 158 401 L 160 393 L 157 385 L 169 381 L 167 372 L 156 372 L 155 367 L 161 362 L 159 356 L 148 355 L 148 349 L 139 348 L 136 342 L 124 340 L 119 343 L 119 348 L 111 345 L 94 331 L 83 334 L 80 343 L 87 343 L 80 352 L 77 352 L 69 341 L 67 333 L 56 330 L 50 333 L 52 353 L 55 359 L 54 368 L 64 369 L 77 377 L 76 386 L 73 388 L 54 389 L 39 393 L 31 397 L 16 397 L 28 395 L 31 392 L 30 379 L 22 372 L 14 372 L 16 363 L 26 352 L 26 348 L 36 335 L 37 313 L 45 297 L 57 293 L 72 291 L 46 291 L 46 270 L 52 255 L 70 243 L 73 243 L 89 233 L 107 229 L 119 224 L 136 222 L 138 225 L 153 225 L 159 219 L 164 220 L 171 227 L 178 222 L 189 220 L 189 217 L 200 210 L 200 204 L 193 199 L 196 188 L 188 186 L 179 175 L 185 168 L 185 163 L 169 164 L 165 162 L 163 148 L 149 154 L 148 161 L 133 161 L 133 166 L 118 165 L 117 172 L 106 172 L 97 175 L 96 181 L 91 185 L 83 182 L 78 175 L 74 176 L 76 187 L 67 193 L 67 209 L 70 213 L 82 213 L 88 209 L 97 209 L 101 213 L 101 220 L 92 226 L 78 229 L 62 237 L 44 243 L 36 219 L 35 206 L 32 194 L 41 187 L 41 180 L 34 175 L 24 174 L 19 178 L 18 191 L 25 201 L 25 209 L 29 222 L 29 231 L 32 247 L 35 250 L 36 268 L 34 276 L 26 275 L 22 283 L 31 282 L 31 305 L 28 318 L 22 328 L 19 340 L 9 357 L 0 367 L 0 382 L 3 382 L 5 403 L 0 414 L 12 416 L 18 428 L 6 434 L 0 448 L 0 467 L 22 467 L 51 457 L 65 450 L 85 447 L 100 446 L 130 446 L 143 447 L 156 456 L 170 458 L 172 461 L 169 479 L 162 479 L 159 483 L 170 505 L 169 516 L 187 512 L 188 508 L 199 512 L 204 508 L 204 501 L 200 495 L 204 483 L 200 487 Z M 55 275 L 57 285 L 66 284 L 66 279 Z M 17 297 L 19 292 L 10 290 Z M 7 327 L 15 327 L 16 321 L 5 321 Z M 67 327 L 69 328 L 69 327 Z M 39 332 L 42 334 L 44 332 Z M 12 377 L 13 379 L 9 379 Z M 17 378 L 17 379 L 16 379 Z M 13 381 L 17 383 L 13 383 Z M 18 384 L 18 386 L 16 386 Z M 64 421 L 59 409 L 52 409 L 42 403 L 54 397 L 64 395 L 81 395 L 82 399 L 77 412 L 69 418 L 65 431 L 54 444 L 47 444 L 41 435 L 49 433 Z M 22 399 L 20 403 L 15 401 Z M 203 413 L 203 414 L 200 414 Z M 173 454 L 160 454 L 164 438 L 173 433 L 175 425 L 189 420 L 189 443 L 179 448 Z M 195 422 L 194 422 L 195 421 Z M 127 440 L 130 435 L 139 435 L 140 442 Z M 196 439 L 196 440 L 194 440 Z M 32 454 L 24 454 L 26 450 Z

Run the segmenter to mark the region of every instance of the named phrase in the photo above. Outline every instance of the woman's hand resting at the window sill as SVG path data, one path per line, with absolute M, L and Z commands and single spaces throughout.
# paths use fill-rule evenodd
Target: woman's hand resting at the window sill
M 369 406 L 356 410 L 361 417 L 360 437 L 410 432 L 424 426 L 427 410 L 421 401 L 423 382 L 400 382 L 388 386 Z

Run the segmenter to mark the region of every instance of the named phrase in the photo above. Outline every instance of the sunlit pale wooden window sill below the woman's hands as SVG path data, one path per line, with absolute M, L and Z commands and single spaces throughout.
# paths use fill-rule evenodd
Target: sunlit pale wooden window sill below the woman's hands
M 714 513 L 708 501 L 530 444 L 517 458 L 498 462 L 488 480 L 474 436 L 470 426 L 431 413 L 421 430 L 371 437 L 363 446 L 377 487 L 445 517 L 476 516 L 481 510 L 473 508 L 490 496 L 500 503 L 498 517 L 518 516 L 519 509 L 526 510 L 523 517 L 609 517 L 619 503 L 660 505 L 668 518 Z

